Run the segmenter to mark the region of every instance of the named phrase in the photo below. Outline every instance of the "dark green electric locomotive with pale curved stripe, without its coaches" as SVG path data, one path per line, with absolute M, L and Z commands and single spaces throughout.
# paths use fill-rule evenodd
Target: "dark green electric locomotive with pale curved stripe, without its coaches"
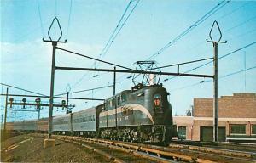
M 99 114 L 102 138 L 136 142 L 169 142 L 177 136 L 166 88 L 137 85 L 106 99 Z

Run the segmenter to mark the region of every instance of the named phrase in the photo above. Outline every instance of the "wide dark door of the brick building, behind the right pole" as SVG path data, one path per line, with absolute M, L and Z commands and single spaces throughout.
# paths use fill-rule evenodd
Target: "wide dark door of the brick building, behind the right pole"
M 218 127 L 218 141 L 224 142 L 226 140 L 226 129 L 224 126 Z M 213 141 L 213 127 L 201 126 L 200 127 L 200 141 L 212 142 Z

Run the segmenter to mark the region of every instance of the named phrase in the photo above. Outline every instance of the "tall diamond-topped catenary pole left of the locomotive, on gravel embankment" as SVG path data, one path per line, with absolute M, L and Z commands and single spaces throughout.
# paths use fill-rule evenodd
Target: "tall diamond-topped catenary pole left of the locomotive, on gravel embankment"
M 49 35 L 49 31 L 51 30 L 52 25 L 54 24 L 55 20 L 57 21 L 57 24 L 59 25 L 59 29 L 61 31 L 61 36 L 58 38 L 57 41 L 53 41 Z M 50 76 L 50 93 L 49 93 L 49 128 L 48 128 L 48 138 L 51 138 L 51 134 L 52 134 L 52 128 L 53 128 L 53 97 L 54 97 L 54 85 L 55 85 L 55 52 L 56 52 L 56 47 L 57 47 L 57 43 L 61 42 L 60 39 L 62 37 L 62 30 L 61 30 L 61 25 L 59 20 L 55 17 L 51 23 L 51 25 L 49 26 L 49 30 L 48 30 L 48 36 L 49 36 L 49 40 L 44 40 L 43 38 L 43 42 L 51 42 L 52 43 L 52 63 L 51 63 L 51 76 Z M 64 42 L 61 43 L 66 43 L 67 40 L 65 40 Z

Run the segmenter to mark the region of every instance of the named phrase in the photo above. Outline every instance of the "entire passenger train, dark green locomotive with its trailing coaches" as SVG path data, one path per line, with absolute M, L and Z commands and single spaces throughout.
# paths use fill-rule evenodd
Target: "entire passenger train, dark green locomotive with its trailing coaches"
M 53 132 L 134 142 L 169 142 L 177 137 L 166 88 L 137 85 L 104 104 L 53 117 Z M 47 132 L 48 118 L 7 123 L 8 130 Z

